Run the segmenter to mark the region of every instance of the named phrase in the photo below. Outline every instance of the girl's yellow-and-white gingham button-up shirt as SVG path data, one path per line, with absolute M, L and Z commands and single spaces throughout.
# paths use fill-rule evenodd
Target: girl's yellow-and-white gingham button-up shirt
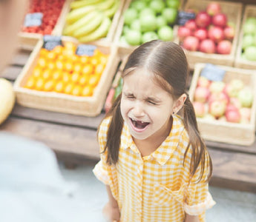
M 99 127 L 100 152 L 107 141 L 108 124 Z M 119 161 L 106 164 L 107 152 L 93 169 L 99 181 L 111 187 L 121 213 L 120 222 L 182 222 L 185 212 L 199 215 L 205 221 L 206 209 L 214 205 L 208 184 L 189 181 L 191 149 L 183 166 L 188 133 L 183 120 L 174 115 L 168 137 L 151 155 L 142 157 L 131 137 L 127 124 L 122 128 Z M 197 170 L 194 178 L 199 175 Z M 206 178 L 207 172 L 204 175 Z

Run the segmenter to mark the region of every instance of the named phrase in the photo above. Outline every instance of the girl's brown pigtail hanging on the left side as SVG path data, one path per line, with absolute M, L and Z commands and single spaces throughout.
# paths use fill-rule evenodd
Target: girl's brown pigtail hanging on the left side
M 107 144 L 103 152 L 108 149 L 107 163 L 109 165 L 116 164 L 119 155 L 119 146 L 121 141 L 121 133 L 123 126 L 123 119 L 120 110 L 122 93 L 116 98 L 111 110 L 106 114 L 106 117 L 112 116 L 111 123 L 108 127 Z

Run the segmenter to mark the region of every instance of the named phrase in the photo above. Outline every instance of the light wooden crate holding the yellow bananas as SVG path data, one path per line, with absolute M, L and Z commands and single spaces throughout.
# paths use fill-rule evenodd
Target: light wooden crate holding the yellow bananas
M 73 1 L 73 0 L 71 0 L 71 1 Z M 118 10 L 116 11 L 116 13 L 114 14 L 114 16 L 112 18 L 111 27 L 108 30 L 107 36 L 105 38 L 100 38 L 97 41 L 112 42 L 114 40 L 114 35 L 115 35 L 115 32 L 116 32 L 116 27 L 117 27 L 117 24 L 119 22 L 119 18 L 120 18 L 121 14 L 122 14 L 122 8 L 123 8 L 123 6 L 125 4 L 125 0 L 119 0 L 119 1 L 120 1 L 119 8 L 118 8 Z M 62 35 L 63 29 L 65 27 L 65 23 L 66 23 L 65 19 L 66 19 L 66 16 L 67 16 L 67 14 L 69 12 L 70 12 L 70 4 L 68 4 L 65 16 L 62 17 L 61 21 L 58 24 L 57 33 L 59 33 L 59 35 Z

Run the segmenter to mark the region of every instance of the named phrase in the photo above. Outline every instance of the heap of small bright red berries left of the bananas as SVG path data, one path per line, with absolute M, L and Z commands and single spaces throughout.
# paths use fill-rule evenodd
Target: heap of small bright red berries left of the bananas
M 33 0 L 30 1 L 30 7 L 27 16 L 33 13 L 42 13 L 42 23 L 39 25 L 23 26 L 22 32 L 39 33 L 42 35 L 50 35 L 62 12 L 65 0 Z

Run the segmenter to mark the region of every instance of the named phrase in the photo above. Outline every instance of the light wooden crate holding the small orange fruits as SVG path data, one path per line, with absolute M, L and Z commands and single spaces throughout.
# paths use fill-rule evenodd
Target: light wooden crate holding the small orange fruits
M 76 39 L 65 36 L 62 37 L 62 41 L 73 41 L 76 45 L 79 44 Z M 115 46 L 110 46 L 103 42 L 94 42 L 94 44 L 102 51 L 102 53 L 108 53 L 109 57 L 105 70 L 103 71 L 92 96 L 73 96 L 58 92 L 41 92 L 24 88 L 27 79 L 30 77 L 36 66 L 36 61 L 39 58 L 39 51 L 43 45 L 43 41 L 41 40 L 36 44 L 22 73 L 16 78 L 14 83 L 17 102 L 24 107 L 32 107 L 41 110 L 66 112 L 75 115 L 99 115 L 105 102 L 105 97 L 111 87 L 111 81 L 116 73 L 118 60 L 116 59 Z

